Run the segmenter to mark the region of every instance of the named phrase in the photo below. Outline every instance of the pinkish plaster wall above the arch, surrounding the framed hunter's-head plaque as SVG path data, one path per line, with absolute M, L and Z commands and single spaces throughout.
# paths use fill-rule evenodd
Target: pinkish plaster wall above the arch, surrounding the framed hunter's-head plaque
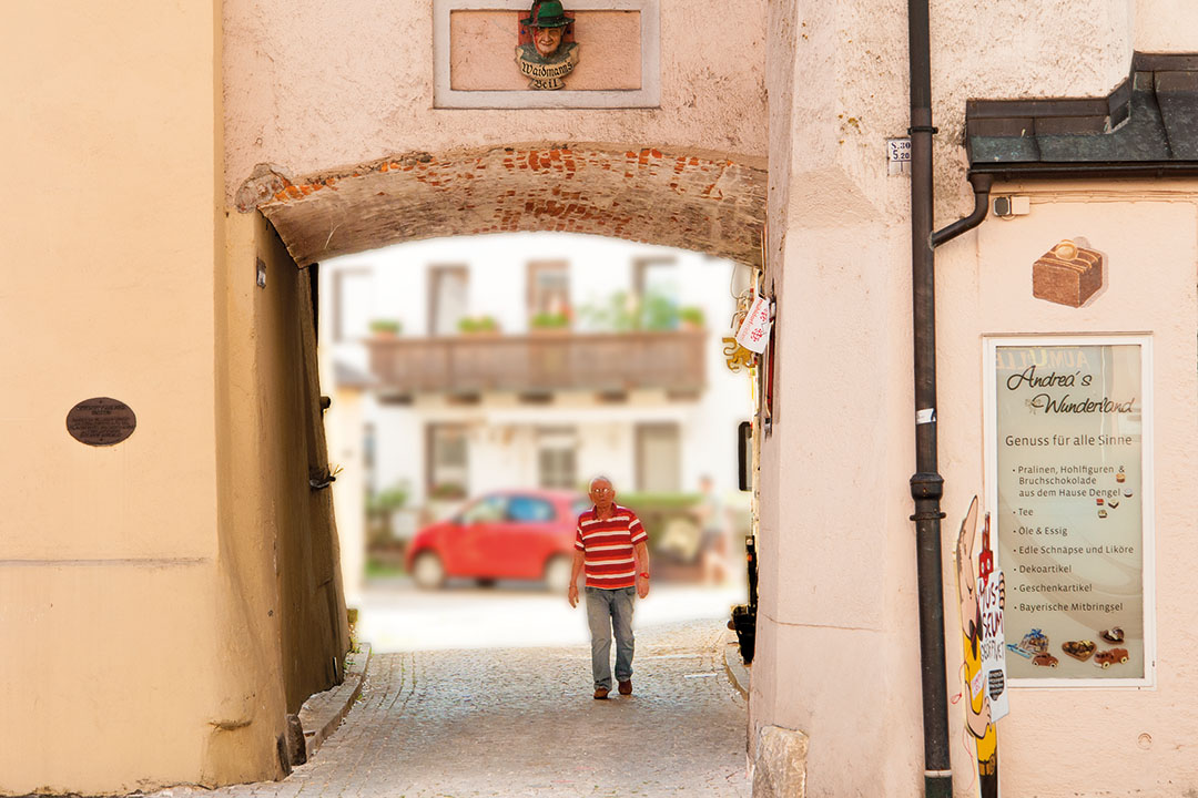
M 660 109 L 510 111 L 432 108 L 430 2 L 300 0 L 280 13 L 225 0 L 226 201 L 264 162 L 304 175 L 412 150 L 570 140 L 760 157 L 766 6 L 662 2 Z

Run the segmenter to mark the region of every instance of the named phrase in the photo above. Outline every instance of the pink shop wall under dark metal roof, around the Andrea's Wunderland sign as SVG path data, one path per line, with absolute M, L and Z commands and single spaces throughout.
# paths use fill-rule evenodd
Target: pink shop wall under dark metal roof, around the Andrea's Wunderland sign
M 1198 790 L 1198 183 L 1000 185 L 1030 195 L 1031 213 L 991 219 L 945 246 L 938 273 L 940 470 L 954 530 L 984 488 L 981 427 L 985 335 L 1138 333 L 1152 339 L 1156 687 L 1029 689 L 1011 693 L 999 723 L 1004 794 L 1043 798 L 1190 796 Z M 1106 288 L 1081 309 L 1031 297 L 1031 263 L 1061 238 L 1085 237 L 1106 256 Z M 951 597 L 951 568 L 945 595 Z M 1155 592 L 1155 595 L 1154 595 Z M 1010 599 L 1010 597 L 1009 597 Z M 1155 601 L 1154 601 L 1155 599 Z M 948 602 L 946 611 L 952 609 Z M 950 626 L 950 629 L 952 627 Z M 1014 634 L 1014 632 L 1012 632 Z M 950 692 L 960 639 L 949 634 Z M 962 713 L 950 719 L 960 733 Z M 1148 735 L 1148 739 L 1142 738 Z M 962 757 L 964 759 L 964 757 Z M 967 762 L 958 779 L 968 781 Z M 1052 778 L 1046 778 L 1052 774 Z

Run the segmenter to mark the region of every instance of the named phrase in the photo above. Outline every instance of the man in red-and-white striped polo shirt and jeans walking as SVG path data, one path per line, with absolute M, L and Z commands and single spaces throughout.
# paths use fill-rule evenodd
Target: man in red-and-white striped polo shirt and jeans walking
M 616 633 L 616 680 L 619 694 L 633 693 L 633 601 L 649 595 L 649 536 L 641 519 L 616 504 L 611 480 L 591 480 L 594 504 L 579 516 L 574 571 L 567 598 L 579 605 L 579 574 L 587 573 L 587 622 L 591 626 L 591 674 L 594 698 L 611 692 L 611 636 Z

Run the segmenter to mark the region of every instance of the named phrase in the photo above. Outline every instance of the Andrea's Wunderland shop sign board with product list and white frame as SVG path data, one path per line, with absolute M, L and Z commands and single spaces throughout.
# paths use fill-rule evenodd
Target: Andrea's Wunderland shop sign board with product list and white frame
M 1151 342 L 987 342 L 988 504 L 1016 683 L 1151 684 Z

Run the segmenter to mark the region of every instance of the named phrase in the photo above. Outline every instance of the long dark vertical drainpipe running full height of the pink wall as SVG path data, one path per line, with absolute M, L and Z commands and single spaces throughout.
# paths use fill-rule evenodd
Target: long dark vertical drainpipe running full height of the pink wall
M 936 256 L 932 250 L 932 69 L 928 0 L 907 0 L 910 65 L 910 263 L 915 354 L 915 550 L 924 702 L 924 794 L 952 798 L 949 760 L 944 592 L 940 577 L 940 497 L 936 441 Z

